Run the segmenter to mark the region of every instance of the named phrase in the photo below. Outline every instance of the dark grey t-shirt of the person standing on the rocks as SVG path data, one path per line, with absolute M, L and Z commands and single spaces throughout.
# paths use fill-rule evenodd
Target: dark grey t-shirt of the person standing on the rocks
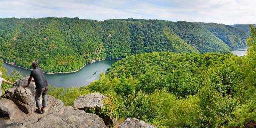
M 31 71 L 30 77 L 34 78 L 36 89 L 41 89 L 48 86 L 48 83 L 44 77 L 44 72 L 41 68 L 36 68 Z

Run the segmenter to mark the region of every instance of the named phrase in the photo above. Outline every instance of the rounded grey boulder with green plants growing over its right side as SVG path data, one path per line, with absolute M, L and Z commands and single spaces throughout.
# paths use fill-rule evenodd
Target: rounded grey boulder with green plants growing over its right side
M 104 108 L 103 100 L 107 99 L 107 96 L 104 96 L 99 93 L 91 93 L 85 96 L 81 96 L 74 102 L 74 107 L 79 110 L 84 110 L 86 112 L 91 112 L 92 110 L 96 115 L 100 116 L 106 125 L 110 126 L 116 124 L 116 118 L 111 116 L 106 116 L 101 113 L 102 108 Z

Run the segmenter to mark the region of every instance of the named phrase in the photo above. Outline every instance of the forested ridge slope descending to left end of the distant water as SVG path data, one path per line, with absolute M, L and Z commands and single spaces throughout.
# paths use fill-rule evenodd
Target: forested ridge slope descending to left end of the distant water
M 184 21 L 166 22 L 166 26 L 173 30 L 185 42 L 194 46 L 200 53 L 230 52 L 230 47 L 222 40 L 196 23 Z

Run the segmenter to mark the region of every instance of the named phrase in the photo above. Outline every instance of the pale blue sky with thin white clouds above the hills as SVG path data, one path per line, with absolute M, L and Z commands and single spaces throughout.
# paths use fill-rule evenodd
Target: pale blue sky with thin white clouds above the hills
M 0 0 L 0 18 L 10 17 L 256 24 L 256 0 Z

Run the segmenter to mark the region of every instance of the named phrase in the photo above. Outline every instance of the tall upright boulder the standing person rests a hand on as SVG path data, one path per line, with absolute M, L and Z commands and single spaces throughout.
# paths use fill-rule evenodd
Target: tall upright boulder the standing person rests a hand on
M 34 82 L 30 82 L 29 86 L 24 88 L 24 85 L 27 85 L 28 77 L 24 77 L 16 80 L 14 86 L 6 90 L 4 98 L 14 101 L 14 103 L 26 114 L 31 114 L 36 109 L 35 103 L 35 87 Z

